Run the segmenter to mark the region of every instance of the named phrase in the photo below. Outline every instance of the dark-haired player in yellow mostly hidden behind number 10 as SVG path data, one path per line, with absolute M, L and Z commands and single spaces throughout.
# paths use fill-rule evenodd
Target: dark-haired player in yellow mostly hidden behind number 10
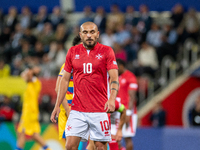
M 76 36 L 73 40 L 73 46 L 80 44 L 81 43 L 81 38 L 80 36 Z M 61 81 L 61 78 L 63 76 L 64 72 L 64 66 L 65 64 L 62 65 L 60 68 L 60 72 L 56 81 L 56 88 L 55 91 L 57 93 L 59 84 Z M 69 82 L 69 87 L 65 96 L 65 100 L 63 103 L 60 105 L 60 113 L 58 116 L 58 131 L 59 131 L 59 139 L 66 138 L 65 137 L 65 126 L 67 122 L 67 117 L 69 116 L 70 112 L 70 107 L 72 104 L 72 99 L 73 99 L 73 93 L 74 93 L 74 83 L 73 83 L 73 77 L 71 76 L 70 82 Z

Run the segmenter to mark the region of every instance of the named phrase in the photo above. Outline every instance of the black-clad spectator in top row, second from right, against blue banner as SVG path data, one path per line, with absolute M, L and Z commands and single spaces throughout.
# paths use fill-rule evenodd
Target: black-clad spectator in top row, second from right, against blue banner
M 172 16 L 171 16 L 171 19 L 174 22 L 175 29 L 178 28 L 178 26 L 182 22 L 183 16 L 184 16 L 183 6 L 178 3 L 172 8 Z

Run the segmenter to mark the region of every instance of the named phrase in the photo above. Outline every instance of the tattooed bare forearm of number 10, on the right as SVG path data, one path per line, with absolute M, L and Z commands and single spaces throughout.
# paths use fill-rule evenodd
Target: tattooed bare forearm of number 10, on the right
M 112 113 L 115 111 L 115 99 L 118 93 L 119 89 L 119 82 L 118 82 L 118 70 L 117 69 L 110 69 L 108 71 L 108 74 L 110 76 L 110 98 L 105 104 L 105 109 L 107 109 L 107 113 Z

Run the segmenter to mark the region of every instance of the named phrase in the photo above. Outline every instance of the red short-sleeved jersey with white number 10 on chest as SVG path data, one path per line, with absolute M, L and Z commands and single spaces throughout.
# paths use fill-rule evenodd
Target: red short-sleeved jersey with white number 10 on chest
M 111 47 L 97 43 L 87 50 L 83 44 L 71 47 L 66 56 L 65 71 L 73 69 L 74 98 L 72 110 L 105 112 L 109 98 L 108 70 L 118 69 Z

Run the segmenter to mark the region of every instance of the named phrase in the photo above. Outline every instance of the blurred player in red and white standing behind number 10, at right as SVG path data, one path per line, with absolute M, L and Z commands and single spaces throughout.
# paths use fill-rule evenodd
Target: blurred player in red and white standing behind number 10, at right
M 136 91 L 138 89 L 135 75 L 125 68 L 125 62 L 117 59 L 119 68 L 119 91 L 117 97 L 126 107 L 126 123 L 123 126 L 122 134 L 126 142 L 126 150 L 133 150 L 132 137 L 135 136 L 137 127 Z

